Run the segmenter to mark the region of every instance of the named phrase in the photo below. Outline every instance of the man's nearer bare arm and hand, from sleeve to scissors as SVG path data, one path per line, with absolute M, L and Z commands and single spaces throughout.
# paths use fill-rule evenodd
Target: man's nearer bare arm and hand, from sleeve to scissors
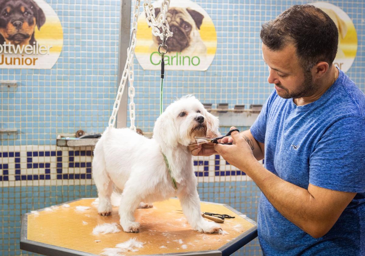
M 216 144 L 215 150 L 252 178 L 276 210 L 314 238 L 323 236 L 331 229 L 356 195 L 312 184 L 304 189 L 284 181 L 257 162 L 250 145 L 242 136 L 238 136 L 237 132 L 231 136 L 233 145 Z

